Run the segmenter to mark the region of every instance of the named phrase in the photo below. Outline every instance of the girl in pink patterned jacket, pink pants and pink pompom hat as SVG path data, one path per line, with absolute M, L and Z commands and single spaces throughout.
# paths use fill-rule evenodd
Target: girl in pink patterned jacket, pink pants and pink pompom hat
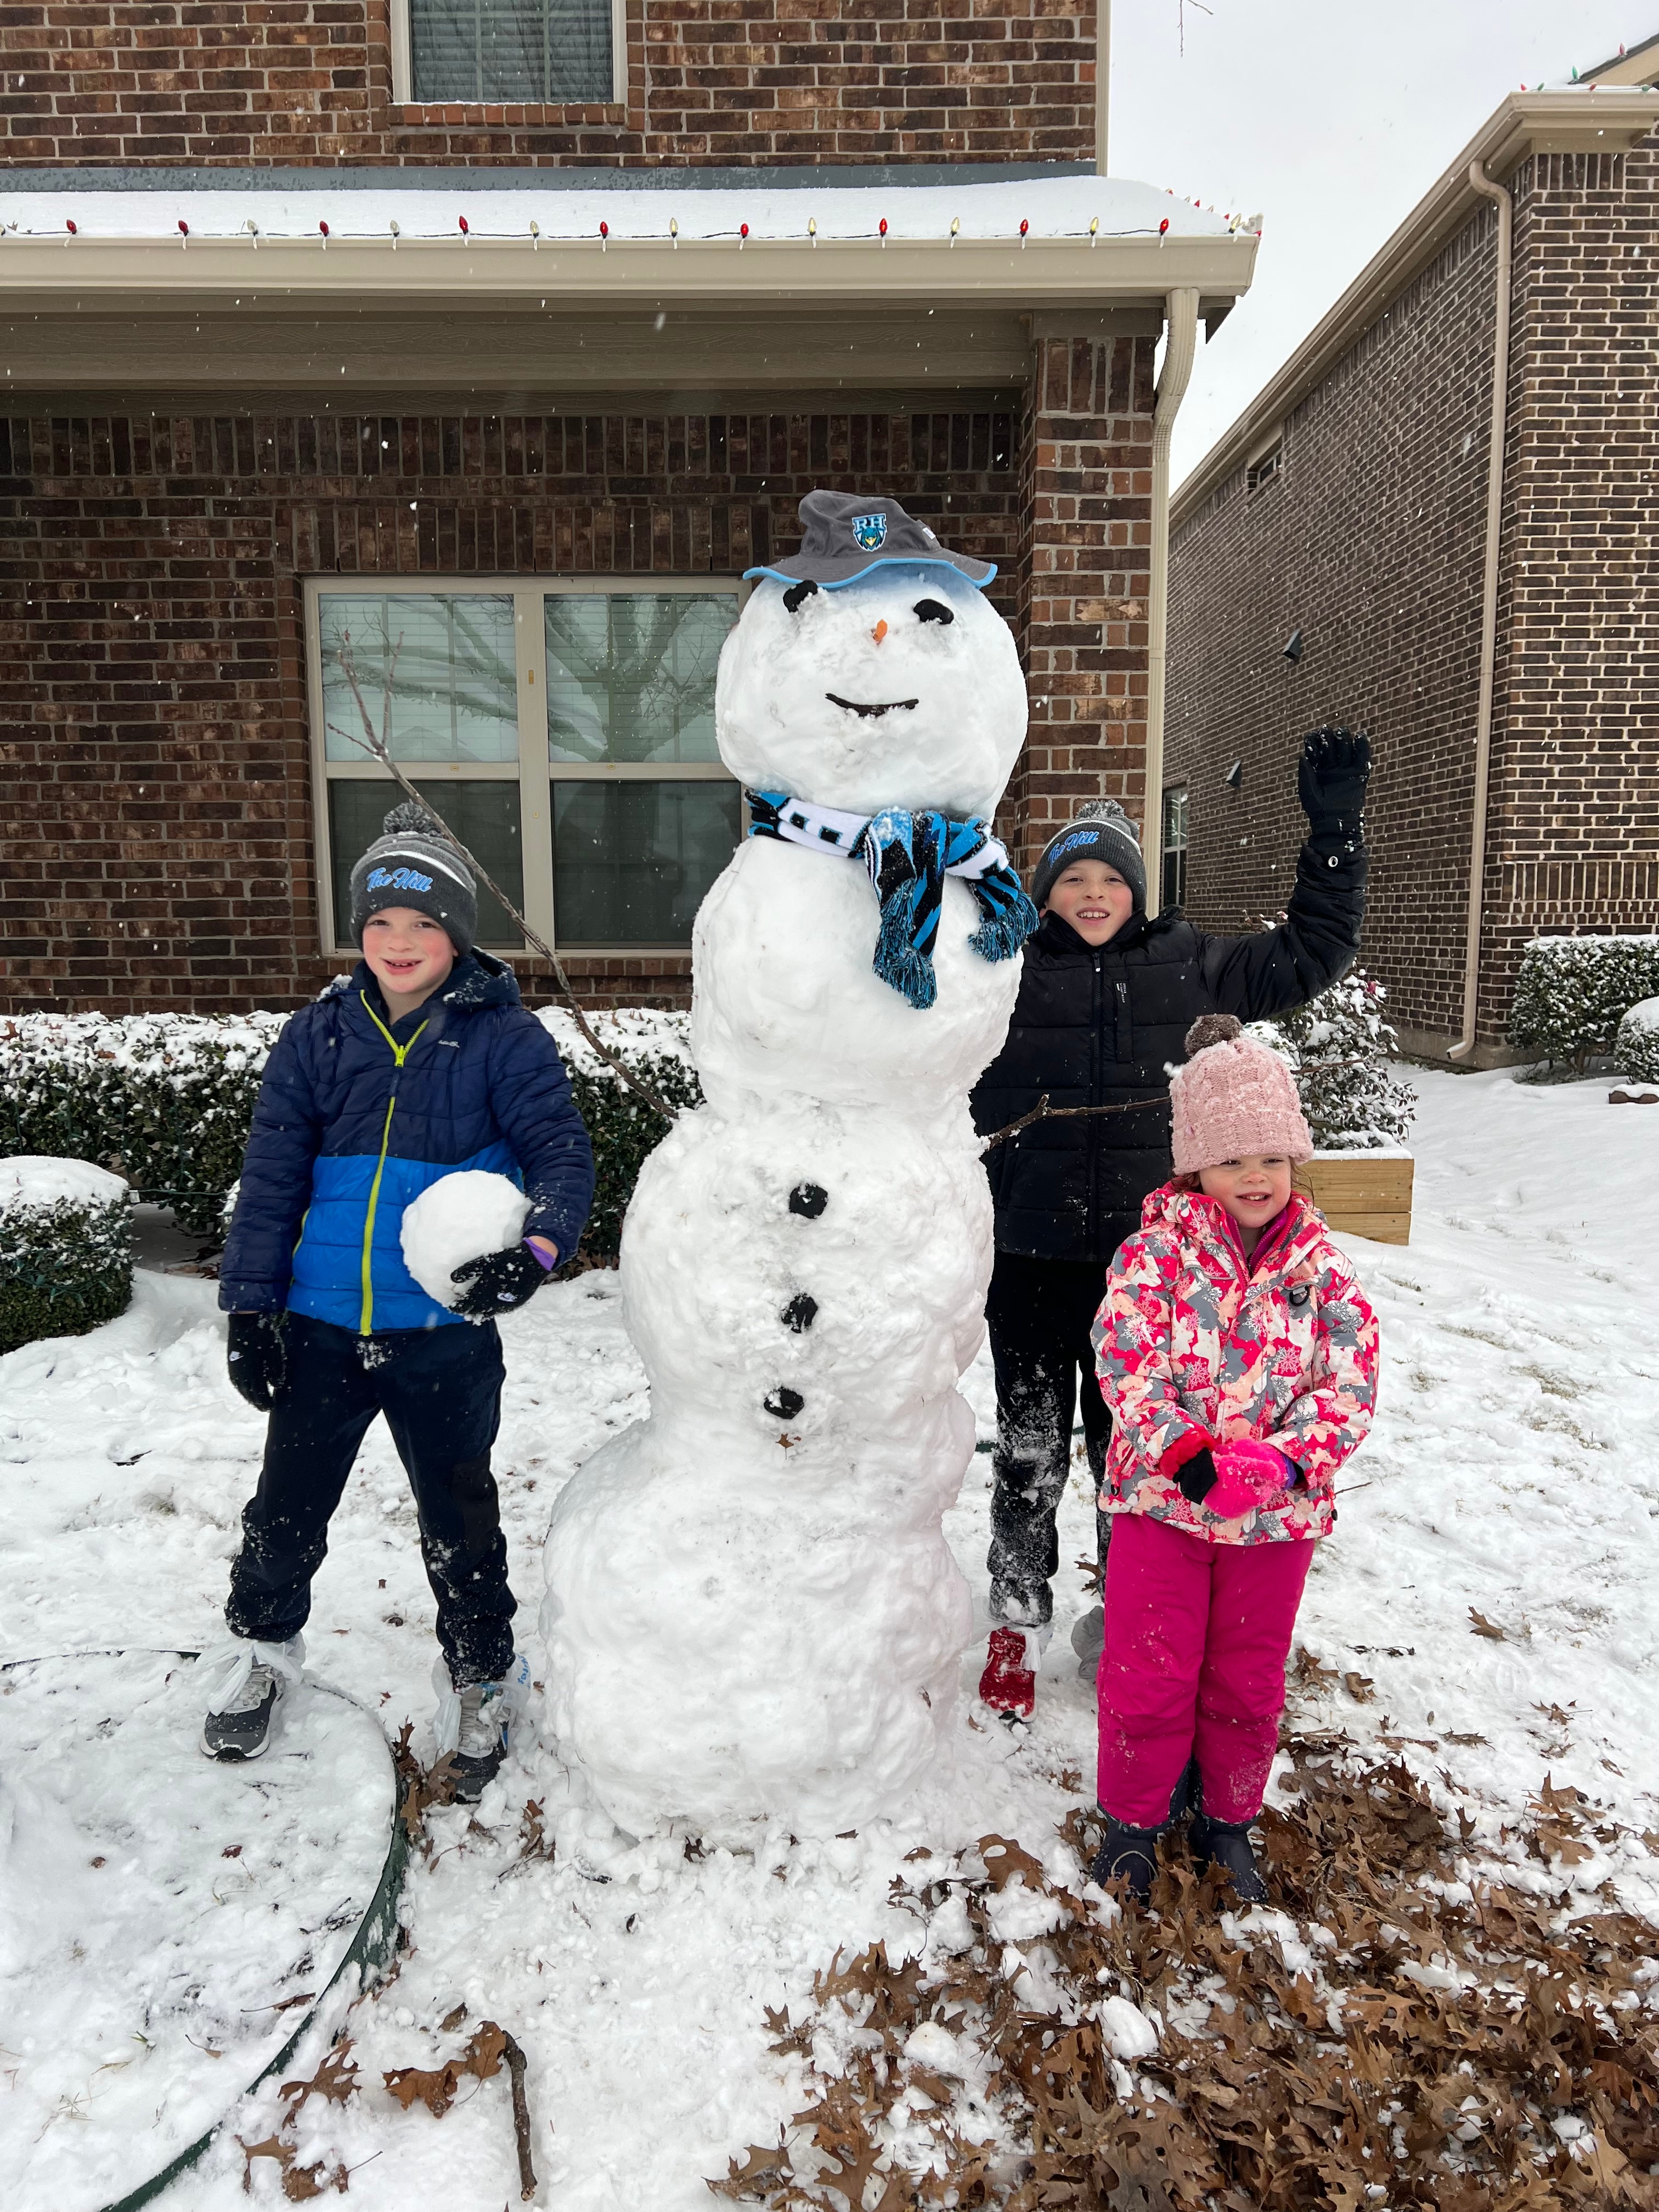
M 1099 1661 L 1095 1880 L 1146 1898 L 1192 1814 L 1199 1865 L 1267 1896 L 1250 1849 L 1285 1657 L 1336 1469 L 1371 1427 L 1376 1314 L 1290 1188 L 1314 1150 L 1290 1071 L 1206 1015 L 1170 1082 L 1175 1179 L 1117 1248 L 1095 1316 L 1117 1515 Z

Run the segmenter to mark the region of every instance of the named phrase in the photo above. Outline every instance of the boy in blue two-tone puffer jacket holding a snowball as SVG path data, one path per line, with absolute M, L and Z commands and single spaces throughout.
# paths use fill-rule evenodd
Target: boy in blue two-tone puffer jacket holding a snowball
M 575 1252 L 593 1148 L 557 1046 L 504 962 L 473 949 L 473 878 L 405 803 L 352 869 L 363 960 L 283 1029 L 254 1106 L 219 1272 L 230 1380 L 270 1413 L 265 1464 L 230 1571 L 232 1644 L 210 1672 L 201 1747 L 259 1759 L 299 1677 L 312 1575 L 363 1436 L 385 1413 L 420 1515 L 458 1794 L 504 1752 L 513 1593 L 489 1451 L 500 1427 L 495 1316 Z M 438 1305 L 403 1263 L 403 1210 L 484 1168 L 531 1199 L 524 1241 L 456 1270 Z M 442 1694 L 442 1681 L 440 1681 Z

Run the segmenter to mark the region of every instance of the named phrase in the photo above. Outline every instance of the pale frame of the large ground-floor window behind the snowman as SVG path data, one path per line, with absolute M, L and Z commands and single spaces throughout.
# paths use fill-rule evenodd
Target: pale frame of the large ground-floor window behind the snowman
M 356 953 L 343 916 L 334 914 L 334 854 L 327 785 L 380 783 L 387 807 L 403 796 L 369 754 L 330 761 L 323 721 L 323 622 L 325 597 L 480 597 L 513 602 L 518 641 L 518 761 L 398 761 L 411 783 L 515 783 L 520 807 L 520 856 L 524 867 L 522 911 L 531 929 L 557 949 L 553 907 L 553 785 L 555 783 L 737 783 L 723 761 L 553 761 L 546 728 L 546 615 L 542 602 L 573 593 L 635 597 L 639 593 L 732 593 L 739 615 L 754 586 L 737 575 L 307 575 L 305 577 L 305 697 L 312 726 L 312 847 L 316 854 L 316 927 L 327 960 Z M 372 706 L 372 701 L 369 701 Z M 739 836 L 745 818 L 739 814 Z M 524 945 L 493 947 L 504 960 L 538 958 Z M 582 958 L 684 958 L 690 945 L 582 945 Z

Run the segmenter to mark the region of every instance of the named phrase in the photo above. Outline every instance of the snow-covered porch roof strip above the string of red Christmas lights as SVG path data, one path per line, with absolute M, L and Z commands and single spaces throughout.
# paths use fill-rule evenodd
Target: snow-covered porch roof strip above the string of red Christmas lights
M 38 173 L 35 173 L 38 175 Z M 449 179 L 434 186 L 420 170 L 376 173 L 374 186 L 294 188 L 261 184 L 248 170 L 223 190 L 100 190 L 64 173 L 62 188 L 7 192 L 0 179 L 4 239 L 254 239 L 316 241 L 522 241 L 526 246 L 595 241 L 730 241 L 763 246 L 803 239 L 841 243 L 885 239 L 1214 239 L 1259 230 L 1261 217 L 1217 215 L 1170 190 L 1124 177 L 1055 175 L 998 184 L 854 184 L 825 186 L 821 170 L 801 184 L 657 186 L 568 181 L 544 188 L 473 190 Z M 232 175 L 232 173 L 228 173 Z M 568 179 L 568 170 L 549 179 Z M 695 173 L 692 173 L 695 175 Z M 385 181 L 380 181 L 385 179 Z M 4 263 L 0 263 L 0 270 Z

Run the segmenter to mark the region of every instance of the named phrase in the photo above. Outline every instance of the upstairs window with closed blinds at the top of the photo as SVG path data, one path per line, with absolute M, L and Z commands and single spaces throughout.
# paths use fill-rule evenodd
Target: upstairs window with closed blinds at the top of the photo
M 613 100 L 611 0 L 405 0 L 420 102 Z

